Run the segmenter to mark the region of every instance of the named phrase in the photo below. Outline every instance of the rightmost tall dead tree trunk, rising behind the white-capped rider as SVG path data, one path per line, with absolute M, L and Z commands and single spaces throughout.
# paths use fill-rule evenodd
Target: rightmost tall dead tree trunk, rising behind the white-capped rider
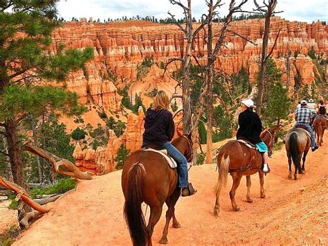
M 265 14 L 265 24 L 264 24 L 264 35 L 262 39 L 262 52 L 261 52 L 261 62 L 259 68 L 259 81 L 258 81 L 258 91 L 257 91 L 257 114 L 261 114 L 262 112 L 262 103 L 263 103 L 263 95 L 264 95 L 264 86 L 265 86 L 265 73 L 266 73 L 266 60 L 268 56 L 266 56 L 266 49 L 268 48 L 268 37 L 270 34 L 270 22 L 271 16 L 274 13 L 275 6 L 277 6 L 277 0 L 268 0 L 263 1 L 264 6 L 259 6 L 257 4 L 257 0 L 254 0 L 255 6 L 257 7 L 257 11 Z

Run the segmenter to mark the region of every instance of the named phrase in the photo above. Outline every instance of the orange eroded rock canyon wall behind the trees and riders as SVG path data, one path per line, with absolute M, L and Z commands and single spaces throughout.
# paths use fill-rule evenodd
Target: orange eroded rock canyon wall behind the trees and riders
M 195 27 L 198 25 L 195 24 Z M 215 24 L 214 33 L 220 28 L 220 24 Z M 242 67 L 245 67 L 250 74 L 250 80 L 254 82 L 259 70 L 264 19 L 235 21 L 230 29 L 250 39 L 254 44 L 246 42 L 233 33 L 228 33 L 216 67 L 228 74 L 238 73 Z M 277 67 L 283 72 L 282 80 L 284 82 L 287 80 L 286 56 L 291 53 L 289 58 L 291 89 L 295 84 L 295 76 L 300 78 L 302 84 L 311 84 L 315 78 L 314 74 L 318 71 L 307 53 L 313 48 L 316 54 L 323 55 L 327 59 L 328 26 L 322 25 L 320 21 L 306 24 L 273 17 L 268 51 L 273 46 L 278 30 L 280 36 L 273 51 L 273 58 Z M 206 43 L 203 42 L 204 35 L 201 31 L 194 42 L 194 55 L 201 64 L 206 62 L 207 55 Z M 143 132 L 143 111 L 139 110 L 138 115 L 129 114 L 125 118 L 120 109 L 122 97 L 118 94 L 118 88 L 129 85 L 129 94 L 131 96 L 136 93 L 141 94 L 146 106 L 151 103 L 151 98 L 146 95 L 154 89 L 165 89 L 172 94 L 176 80 L 169 73 L 163 76 L 163 64 L 170 58 L 183 56 L 184 35 L 174 25 L 146 21 L 107 24 L 80 21 L 64 23 L 62 28 L 53 32 L 52 38 L 51 53 L 56 52 L 60 43 L 75 49 L 93 47 L 94 60 L 86 64 L 85 69 L 72 73 L 66 81 L 67 87 L 79 94 L 80 103 L 102 107 L 107 114 L 119 114 L 122 120 L 127 122 L 127 129 L 120 139 L 109 131 L 107 146 L 98 147 L 97 150 L 91 148 L 82 150 L 78 144 L 75 148 L 76 165 L 81 170 L 89 170 L 95 174 L 108 173 L 116 166 L 114 158 L 120 145 L 124 144 L 131 151 L 138 150 Z M 297 57 L 294 56 L 295 53 L 299 53 Z M 138 78 L 138 69 L 143 60 L 149 57 L 154 58 L 154 66 L 148 69 L 145 76 Z M 169 68 L 170 71 L 176 69 L 179 69 L 179 64 L 172 64 Z M 104 125 L 98 115 L 93 117 L 90 114 L 88 118 L 89 120 L 94 118 L 94 121 Z

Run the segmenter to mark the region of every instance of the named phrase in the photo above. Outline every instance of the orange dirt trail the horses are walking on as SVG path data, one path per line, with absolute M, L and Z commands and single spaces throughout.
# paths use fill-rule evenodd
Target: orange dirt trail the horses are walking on
M 325 139 L 327 142 L 328 132 Z M 306 173 L 297 181 L 287 179 L 284 148 L 273 154 L 270 164 L 272 171 L 264 184 L 266 198 L 259 198 L 259 179 L 253 175 L 253 204 L 248 204 L 243 178 L 236 195 L 241 211 L 233 211 L 228 195 L 229 177 L 228 186 L 221 193 L 218 218 L 212 216 L 215 165 L 192 167 L 190 180 L 198 193 L 179 200 L 176 217 L 182 227 L 170 228 L 169 244 L 328 243 L 328 144 L 309 153 Z M 21 234 L 15 245 L 131 245 L 122 217 L 120 175 L 121 172 L 113 172 L 80 182 L 76 191 L 49 204 L 52 211 Z M 165 211 L 154 230 L 155 245 L 161 238 L 164 222 Z

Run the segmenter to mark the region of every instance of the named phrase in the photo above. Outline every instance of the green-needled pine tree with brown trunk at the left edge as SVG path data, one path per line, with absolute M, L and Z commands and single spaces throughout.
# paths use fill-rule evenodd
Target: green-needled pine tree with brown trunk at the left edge
M 51 33 L 60 26 L 58 1 L 0 1 L 0 134 L 6 137 L 14 182 L 28 188 L 23 171 L 19 128 L 32 114 L 37 117 L 50 109 L 78 114 L 78 96 L 63 87 L 46 85 L 49 80 L 64 81 L 72 70 L 91 59 L 93 50 L 64 49 L 57 45 L 56 55 L 47 47 Z M 44 81 L 44 87 L 35 83 Z

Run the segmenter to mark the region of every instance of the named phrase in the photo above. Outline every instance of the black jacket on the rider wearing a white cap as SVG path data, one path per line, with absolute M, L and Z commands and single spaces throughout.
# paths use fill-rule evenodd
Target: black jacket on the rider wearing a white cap
M 238 124 L 237 139 L 246 139 L 254 144 L 262 141 L 259 138 L 262 132 L 262 123 L 259 116 L 253 110 L 246 109 L 240 113 Z

